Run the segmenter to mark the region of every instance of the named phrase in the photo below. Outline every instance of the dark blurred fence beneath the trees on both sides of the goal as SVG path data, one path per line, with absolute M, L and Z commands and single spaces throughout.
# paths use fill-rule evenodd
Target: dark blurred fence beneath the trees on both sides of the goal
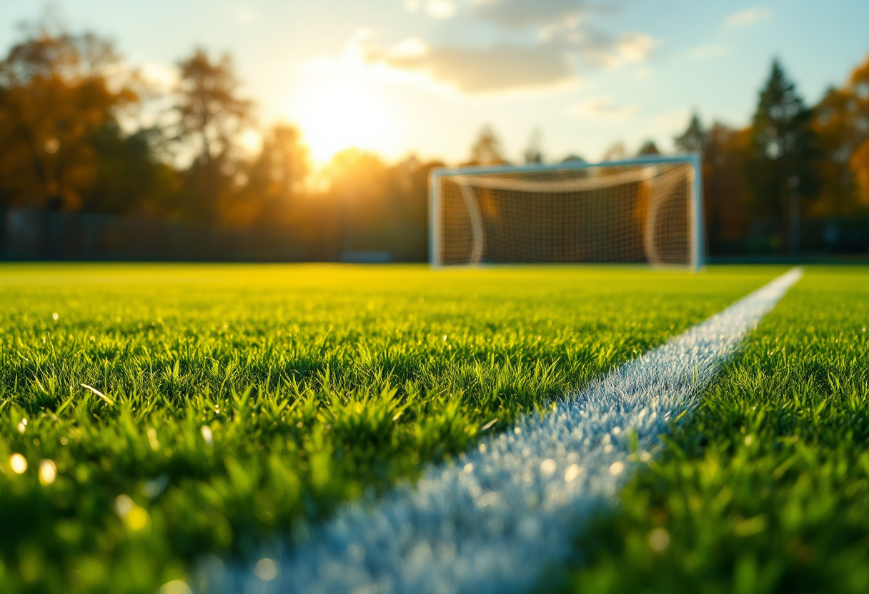
M 352 221 L 293 228 L 223 228 L 113 214 L 0 208 L 6 261 L 424 261 L 424 226 L 394 221 L 363 234 Z M 710 262 L 869 261 L 869 217 L 800 222 L 799 256 L 786 255 L 777 221 L 756 219 L 746 235 L 710 237 Z M 370 230 L 369 230 L 370 231 Z M 776 243 L 776 239 L 779 242 Z

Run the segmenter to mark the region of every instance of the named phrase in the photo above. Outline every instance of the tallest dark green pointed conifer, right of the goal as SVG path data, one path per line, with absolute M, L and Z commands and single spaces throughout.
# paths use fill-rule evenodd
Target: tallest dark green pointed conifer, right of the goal
M 817 186 L 811 123 L 812 110 L 806 108 L 778 60 L 773 61 L 753 117 L 747 173 L 755 213 L 779 221 L 779 241 L 789 234 L 792 253 L 799 241 L 795 234 L 799 197 L 813 198 Z

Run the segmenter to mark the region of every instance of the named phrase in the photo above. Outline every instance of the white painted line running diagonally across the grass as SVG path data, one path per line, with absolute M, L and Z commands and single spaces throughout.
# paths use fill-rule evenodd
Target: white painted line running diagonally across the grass
M 636 460 L 651 458 L 669 421 L 698 403 L 801 275 L 794 268 L 779 276 L 416 485 L 375 505 L 346 505 L 294 549 L 272 552 L 275 561 L 211 575 L 208 590 L 527 591 L 547 565 L 567 558 L 589 513 L 615 497 Z

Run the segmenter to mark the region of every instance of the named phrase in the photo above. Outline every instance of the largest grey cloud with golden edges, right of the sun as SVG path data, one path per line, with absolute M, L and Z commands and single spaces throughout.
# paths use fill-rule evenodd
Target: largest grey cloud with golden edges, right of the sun
M 364 63 L 380 65 L 416 81 L 466 95 L 541 89 L 579 80 L 578 65 L 616 69 L 641 66 L 661 42 L 646 33 L 612 35 L 586 23 L 593 12 L 618 4 L 599 0 L 470 0 L 471 13 L 506 30 L 535 30 L 535 39 L 505 31 L 489 45 L 428 45 L 412 38 L 384 49 L 370 36 L 351 39 L 348 51 Z M 404 0 L 406 10 L 425 10 L 448 19 L 455 0 Z M 465 36 L 467 38 L 467 36 Z M 524 38 L 526 41 L 520 42 Z

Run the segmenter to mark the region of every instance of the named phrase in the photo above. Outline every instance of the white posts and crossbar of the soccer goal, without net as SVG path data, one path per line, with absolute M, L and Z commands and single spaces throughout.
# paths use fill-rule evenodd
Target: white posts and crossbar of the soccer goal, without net
M 581 161 L 568 161 L 561 163 L 532 163 L 528 165 L 493 165 L 464 167 L 439 167 L 434 168 L 428 174 L 428 262 L 432 267 L 441 267 L 441 179 L 453 175 L 486 175 L 503 173 L 523 173 L 559 170 L 577 170 L 599 167 L 626 167 L 631 165 L 666 165 L 687 164 L 691 167 L 690 200 L 688 202 L 689 221 L 689 263 L 688 267 L 697 271 L 705 264 L 705 234 L 703 214 L 703 170 L 700 154 L 691 153 L 677 156 L 648 156 L 637 159 L 625 159 L 621 161 L 604 161 L 587 163 Z M 468 213 L 474 217 L 474 210 Z M 479 212 L 476 213 L 479 217 Z M 477 225 L 472 226 L 480 228 Z M 452 265 L 451 265 L 452 266 Z M 461 265 L 460 265 L 461 266 Z M 472 265 L 474 266 L 474 265 Z

